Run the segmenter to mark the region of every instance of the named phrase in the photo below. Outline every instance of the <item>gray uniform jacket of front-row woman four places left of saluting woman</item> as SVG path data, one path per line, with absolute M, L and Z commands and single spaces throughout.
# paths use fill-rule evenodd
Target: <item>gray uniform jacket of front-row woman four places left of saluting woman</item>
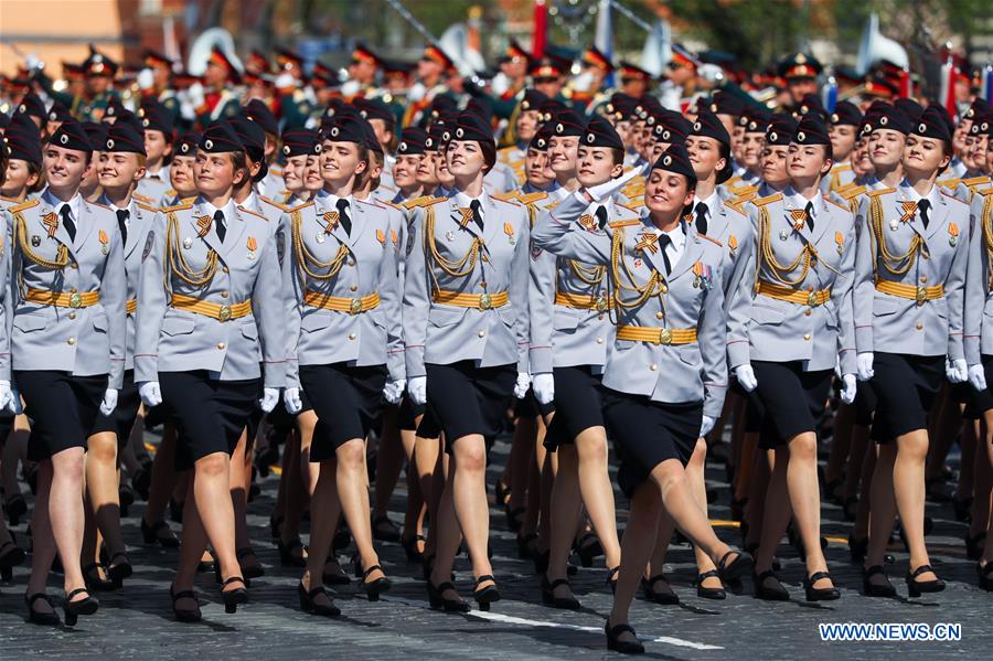
M 266 387 L 282 387 L 286 323 L 275 225 L 244 207 L 235 207 L 233 215 L 225 213 L 224 242 L 201 198 L 156 215 L 141 253 L 136 382 L 158 381 L 159 372 L 196 370 L 221 381 L 258 379 L 264 363 Z M 167 253 L 170 217 L 175 224 Z M 188 282 L 171 266 L 182 260 L 186 271 L 202 271 L 211 254 L 217 256 L 216 269 L 203 285 Z M 250 301 L 252 311 L 222 321 L 220 314 L 173 307 L 172 295 L 218 307 Z

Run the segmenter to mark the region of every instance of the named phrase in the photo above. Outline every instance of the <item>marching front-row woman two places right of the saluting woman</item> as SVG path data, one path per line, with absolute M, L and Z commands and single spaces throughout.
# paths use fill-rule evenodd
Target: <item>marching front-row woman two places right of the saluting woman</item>
M 858 222 L 865 223 L 855 265 L 858 377 L 872 380 L 878 398 L 873 440 L 879 449 L 863 578 L 873 597 L 896 594 L 883 556 L 897 511 L 910 552 L 910 596 L 944 589 L 925 546 L 928 412 L 943 375 L 951 383 L 968 377 L 962 337 L 968 206 L 935 185 L 951 159 L 951 132 L 940 111 L 928 108 L 907 134 L 906 178 L 867 193 L 858 207 Z

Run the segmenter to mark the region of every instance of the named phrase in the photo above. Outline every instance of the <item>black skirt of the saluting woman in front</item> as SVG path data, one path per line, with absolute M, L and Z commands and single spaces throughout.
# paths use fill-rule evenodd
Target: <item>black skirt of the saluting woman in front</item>
M 604 420 L 622 457 L 618 486 L 631 498 L 663 461 L 686 466 L 700 436 L 703 402 L 665 404 L 604 388 Z

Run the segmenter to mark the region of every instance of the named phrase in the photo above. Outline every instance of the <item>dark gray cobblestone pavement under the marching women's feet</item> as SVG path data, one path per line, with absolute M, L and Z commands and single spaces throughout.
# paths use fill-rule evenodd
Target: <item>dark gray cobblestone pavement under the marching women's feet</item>
M 154 440 L 149 436 L 149 440 Z M 505 439 L 502 439 L 505 440 Z M 502 466 L 509 447 L 498 441 L 494 466 Z M 719 483 L 723 468 L 708 471 Z M 403 480 L 402 480 L 403 482 Z M 177 622 L 170 609 L 168 586 L 175 566 L 175 552 L 141 544 L 138 514 L 142 504 L 131 508 L 125 521 L 125 539 L 135 576 L 121 590 L 99 595 L 96 616 L 81 618 L 74 629 L 46 629 L 25 622 L 23 603 L 26 567 L 18 567 L 12 583 L 0 593 L 0 659 L 57 658 L 183 658 L 212 659 L 248 655 L 258 659 L 402 659 L 418 655 L 429 659 L 568 659 L 613 657 L 606 649 L 604 620 L 610 608 L 602 566 L 580 569 L 574 589 L 583 610 L 566 612 L 541 605 L 537 579 L 532 564 L 516 555 L 514 536 L 508 531 L 503 513 L 491 510 L 493 566 L 503 600 L 490 612 L 473 610 L 465 616 L 433 611 L 426 601 L 418 566 L 406 562 L 398 544 L 378 543 L 381 558 L 394 582 L 391 593 L 378 603 L 356 594 L 355 582 L 339 589 L 337 603 L 343 616 L 337 620 L 314 618 L 298 609 L 296 585 L 299 571 L 282 567 L 268 533 L 268 514 L 278 478 L 261 481 L 263 492 L 249 505 L 249 526 L 255 550 L 266 576 L 253 580 L 252 603 L 236 615 L 225 615 L 212 577 L 201 575 L 204 619 L 197 625 Z M 718 534 L 738 544 L 737 529 L 722 523 L 729 518 L 728 491 L 711 515 L 718 521 Z M 26 489 L 25 489 L 26 491 Z M 403 510 L 403 484 L 394 499 L 394 512 Z M 618 507 L 626 502 L 618 499 Z M 896 653 L 928 659 L 971 653 L 980 658 L 993 642 L 990 614 L 993 595 L 980 590 L 974 563 L 965 558 L 963 524 L 957 523 L 950 507 L 929 504 L 935 531 L 928 539 L 932 563 L 949 582 L 949 588 L 918 599 L 906 598 L 901 576 L 907 555 L 894 546 L 896 563 L 889 568 L 900 595 L 896 599 L 871 599 L 861 595 L 857 567 L 848 562 L 844 537 L 848 524 L 839 508 L 825 505 L 824 534 L 831 540 L 828 562 L 843 596 L 828 605 L 803 600 L 803 565 L 786 544 L 780 548 L 781 577 L 793 598 L 788 603 L 754 599 L 750 580 L 741 595 L 725 601 L 696 597 L 695 574 L 688 546 L 670 553 L 666 573 L 682 604 L 656 606 L 638 600 L 632 608 L 632 625 L 645 641 L 649 658 L 660 659 L 820 659 L 844 654 L 848 658 L 891 658 Z M 621 525 L 623 525 L 623 510 Z M 396 515 L 394 520 L 397 521 Z M 23 541 L 24 524 L 18 529 Z M 344 559 L 344 557 L 342 557 Z M 600 558 L 602 562 L 602 558 Z M 465 557 L 456 566 L 457 586 L 470 596 L 471 572 Z M 61 586 L 51 584 L 61 594 Z M 473 605 L 474 606 L 474 605 Z M 819 622 L 958 622 L 962 639 L 958 642 L 835 642 L 820 640 Z

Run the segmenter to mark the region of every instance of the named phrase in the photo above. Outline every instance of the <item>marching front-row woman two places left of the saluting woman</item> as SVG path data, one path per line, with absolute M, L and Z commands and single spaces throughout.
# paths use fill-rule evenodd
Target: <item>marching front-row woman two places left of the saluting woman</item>
M 455 191 L 417 206 L 407 241 L 408 393 L 415 404 L 428 405 L 445 431 L 451 463 L 442 501 L 453 504 L 472 562 L 473 598 L 485 610 L 500 599 L 487 553 L 485 439 L 495 436 L 512 397 L 523 397 L 530 385 L 530 227 L 524 207 L 483 189 L 496 145 L 477 115 L 459 115 L 446 160 Z M 452 524 L 438 526 L 430 603 L 466 610 L 449 583 L 459 530 L 453 518 L 446 522 Z

